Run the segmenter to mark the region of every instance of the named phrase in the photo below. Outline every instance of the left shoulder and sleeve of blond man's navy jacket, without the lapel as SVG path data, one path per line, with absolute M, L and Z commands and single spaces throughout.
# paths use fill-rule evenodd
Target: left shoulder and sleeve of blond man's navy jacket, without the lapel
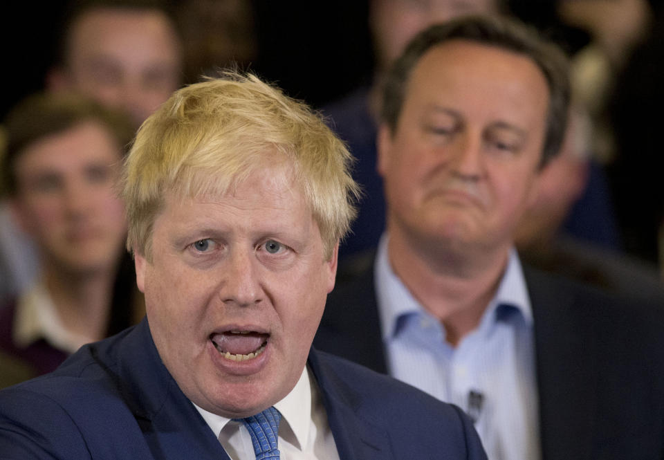
M 140 414 L 120 384 L 116 347 L 124 335 L 86 345 L 53 373 L 1 390 L 0 452 L 15 459 L 89 459 L 91 452 L 95 459 L 151 458 Z

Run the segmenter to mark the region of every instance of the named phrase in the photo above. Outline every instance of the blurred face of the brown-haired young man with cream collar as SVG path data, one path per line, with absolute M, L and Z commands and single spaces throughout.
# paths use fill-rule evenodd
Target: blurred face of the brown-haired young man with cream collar
M 97 122 L 43 138 L 17 158 L 14 209 L 47 268 L 89 273 L 115 266 L 127 231 L 113 192 L 121 160 Z

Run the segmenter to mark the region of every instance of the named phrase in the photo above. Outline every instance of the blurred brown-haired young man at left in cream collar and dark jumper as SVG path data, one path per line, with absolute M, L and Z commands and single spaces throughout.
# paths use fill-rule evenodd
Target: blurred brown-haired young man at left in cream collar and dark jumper
M 6 120 L 8 203 L 41 270 L 0 308 L 0 386 L 52 371 L 82 344 L 140 318 L 113 185 L 133 129 L 78 95 L 41 94 Z M 133 316 L 133 308 L 139 312 Z

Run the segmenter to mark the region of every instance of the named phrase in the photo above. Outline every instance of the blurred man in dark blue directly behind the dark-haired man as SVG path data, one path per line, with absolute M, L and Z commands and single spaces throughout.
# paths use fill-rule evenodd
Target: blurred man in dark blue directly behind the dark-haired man
M 416 33 L 436 22 L 471 13 L 493 14 L 500 0 L 373 0 L 369 28 L 374 42 L 374 81 L 324 108 L 331 127 L 349 143 L 357 163 L 353 177 L 362 185 L 358 219 L 340 249 L 343 257 L 374 248 L 385 228 L 382 179 L 376 171 L 376 131 L 382 80 L 394 59 Z

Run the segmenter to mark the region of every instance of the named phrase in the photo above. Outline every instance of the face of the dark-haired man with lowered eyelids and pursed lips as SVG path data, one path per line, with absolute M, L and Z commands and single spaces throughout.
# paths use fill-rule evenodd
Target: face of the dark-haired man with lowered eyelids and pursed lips
M 547 108 L 527 57 L 462 40 L 425 53 L 396 131 L 380 129 L 391 234 L 424 250 L 510 246 L 534 199 Z

